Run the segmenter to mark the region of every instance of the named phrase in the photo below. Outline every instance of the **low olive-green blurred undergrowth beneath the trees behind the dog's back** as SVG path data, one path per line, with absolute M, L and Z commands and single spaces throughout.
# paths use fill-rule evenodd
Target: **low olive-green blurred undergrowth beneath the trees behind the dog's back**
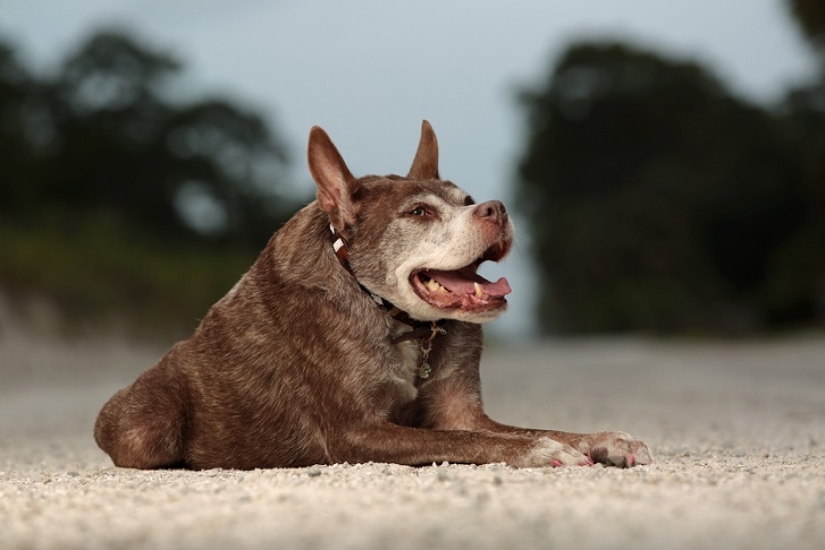
M 28 303 L 45 298 L 66 334 L 106 327 L 163 339 L 191 332 L 255 259 L 248 250 L 153 241 L 111 218 L 85 219 L 71 232 L 0 224 L 0 250 L 0 281 L 24 320 Z

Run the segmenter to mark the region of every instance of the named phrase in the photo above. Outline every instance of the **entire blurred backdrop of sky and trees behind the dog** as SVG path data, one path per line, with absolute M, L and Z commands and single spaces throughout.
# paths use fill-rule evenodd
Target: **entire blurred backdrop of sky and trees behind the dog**
M 0 0 L 0 333 L 188 334 L 314 186 L 516 212 L 501 338 L 825 326 L 825 0 Z

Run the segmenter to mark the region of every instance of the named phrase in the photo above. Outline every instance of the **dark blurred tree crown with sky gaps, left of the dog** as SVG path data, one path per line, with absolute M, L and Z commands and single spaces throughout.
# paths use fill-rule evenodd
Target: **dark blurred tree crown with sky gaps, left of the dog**
M 41 159 L 19 219 L 74 226 L 102 216 L 164 240 L 260 248 L 294 208 L 276 193 L 284 148 L 229 101 L 167 99 L 180 69 L 114 32 L 70 55 L 29 97 Z

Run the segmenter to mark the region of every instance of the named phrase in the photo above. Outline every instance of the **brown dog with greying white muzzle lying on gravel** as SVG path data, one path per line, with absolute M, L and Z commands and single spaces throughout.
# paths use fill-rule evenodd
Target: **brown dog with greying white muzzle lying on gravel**
M 193 336 L 103 407 L 95 440 L 127 468 L 434 462 L 648 464 L 624 432 L 572 434 L 490 419 L 481 325 L 507 306 L 513 224 L 438 171 L 427 121 L 405 177 L 350 173 L 320 127 L 317 198 L 266 245 Z

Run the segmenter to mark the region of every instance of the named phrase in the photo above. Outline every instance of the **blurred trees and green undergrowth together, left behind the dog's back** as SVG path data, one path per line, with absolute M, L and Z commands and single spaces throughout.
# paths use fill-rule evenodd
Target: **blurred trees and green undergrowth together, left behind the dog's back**
M 191 327 L 297 208 L 264 120 L 227 99 L 172 101 L 181 68 L 107 31 L 35 78 L 0 43 L 0 290 L 13 302 L 46 297 L 89 326 Z

